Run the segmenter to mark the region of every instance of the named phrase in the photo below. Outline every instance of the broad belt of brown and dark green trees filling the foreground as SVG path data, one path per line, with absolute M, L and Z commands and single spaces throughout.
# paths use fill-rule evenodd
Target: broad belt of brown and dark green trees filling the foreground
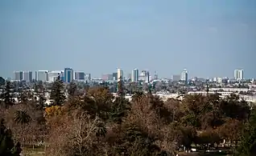
M 256 154 L 256 110 L 236 94 L 184 95 L 182 101 L 136 91 L 129 101 L 122 82 L 114 97 L 106 86 L 78 90 L 52 83 L 46 106 L 42 83 L 20 90 L 14 102 L 5 83 L 0 110 L 0 155 L 43 147 L 46 155 L 175 155 L 192 148 Z M 66 96 L 66 91 L 68 97 Z

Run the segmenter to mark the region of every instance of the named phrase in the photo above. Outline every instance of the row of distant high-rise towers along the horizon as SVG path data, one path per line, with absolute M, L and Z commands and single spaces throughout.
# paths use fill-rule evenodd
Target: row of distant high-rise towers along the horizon
M 68 72 L 66 72 L 68 71 Z M 34 71 L 35 74 L 32 74 L 33 71 L 31 70 L 16 70 L 13 72 L 13 77 L 10 78 L 12 80 L 31 80 L 35 79 L 35 80 L 43 80 L 45 82 L 54 82 L 56 80 L 56 78 L 58 76 L 60 76 L 60 78 L 64 81 L 64 82 L 72 82 L 72 80 L 85 80 L 85 77 L 88 77 L 88 73 L 86 73 L 85 71 L 81 71 L 81 70 L 73 70 L 72 68 L 64 68 L 64 70 L 35 70 Z M 204 77 L 198 77 L 198 76 L 191 76 L 190 74 L 188 74 L 188 70 L 184 69 L 184 70 L 180 70 L 180 74 L 171 74 L 171 78 L 168 79 L 172 79 L 174 81 L 177 81 L 178 79 L 181 81 L 184 81 L 186 83 L 188 83 L 188 79 L 194 79 L 194 78 L 204 78 Z M 27 74 L 27 78 L 26 75 Z M 68 75 L 67 75 L 68 74 Z M 130 80 L 131 82 L 138 82 L 139 80 L 142 80 L 143 78 L 147 77 L 147 82 L 149 82 L 149 80 L 154 80 L 154 79 L 161 79 L 161 78 L 165 78 L 165 77 L 161 77 L 159 76 L 159 74 L 157 74 L 157 71 L 155 71 L 154 73 L 151 73 L 149 70 L 138 70 L 137 68 L 134 68 L 133 70 L 131 70 L 131 72 L 126 72 L 124 70 L 122 70 L 121 68 L 118 68 L 114 73 L 112 74 L 101 74 L 101 77 L 92 77 L 92 78 L 100 78 L 102 80 L 116 80 L 116 81 L 120 81 L 119 77 L 122 77 L 122 80 L 124 80 L 123 78 L 127 78 L 129 76 L 124 76 L 124 75 L 130 75 Z M 41 76 L 39 76 L 41 75 Z M 41 78 L 43 76 L 43 78 Z M 39 78 L 40 77 L 40 78 Z M 89 74 L 89 79 L 91 79 L 91 74 Z M 116 78 L 117 77 L 117 78 Z M 143 77 L 143 78 L 140 78 Z M 67 79 L 68 78 L 68 79 Z M 234 74 L 233 77 L 220 77 L 220 76 L 214 76 L 214 77 L 207 77 L 210 79 L 216 79 L 215 81 L 217 81 L 218 78 L 229 78 L 229 79 L 233 79 L 233 80 L 244 80 L 244 79 L 250 79 L 250 78 L 244 78 L 244 70 L 243 69 L 239 69 L 239 70 L 234 70 Z M 204 79 L 207 79 L 204 78 Z M 146 80 L 146 79 L 145 79 Z

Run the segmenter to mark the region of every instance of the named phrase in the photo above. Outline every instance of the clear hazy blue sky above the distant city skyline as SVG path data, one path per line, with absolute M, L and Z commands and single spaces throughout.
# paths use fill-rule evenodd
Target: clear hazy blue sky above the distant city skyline
M 256 78 L 255 0 L 1 0 L 0 76 L 122 68 Z

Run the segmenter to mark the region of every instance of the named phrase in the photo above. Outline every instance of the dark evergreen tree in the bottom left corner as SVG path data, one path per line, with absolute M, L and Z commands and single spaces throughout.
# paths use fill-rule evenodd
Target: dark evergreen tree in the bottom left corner
M 4 126 L 4 120 L 0 122 L 0 155 L 5 156 L 19 156 L 21 153 L 19 142 L 14 145 L 14 140 L 10 130 Z

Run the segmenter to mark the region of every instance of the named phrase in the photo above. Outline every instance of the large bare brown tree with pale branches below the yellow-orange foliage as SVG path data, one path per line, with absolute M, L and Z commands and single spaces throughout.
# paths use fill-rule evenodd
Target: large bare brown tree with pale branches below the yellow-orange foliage
M 89 114 L 75 110 L 61 120 L 63 123 L 50 132 L 49 154 L 88 155 L 97 141 L 99 118 L 90 118 Z

